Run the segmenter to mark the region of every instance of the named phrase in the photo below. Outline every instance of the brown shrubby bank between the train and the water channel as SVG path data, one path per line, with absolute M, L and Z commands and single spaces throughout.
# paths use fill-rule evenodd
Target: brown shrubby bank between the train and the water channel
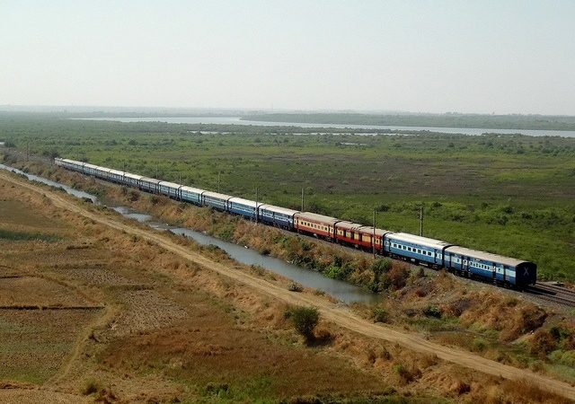
M 400 289 L 412 276 L 410 266 L 402 262 L 373 259 L 368 254 L 353 253 L 338 245 L 314 241 L 310 237 L 255 224 L 239 216 L 218 212 L 206 206 L 192 206 L 164 196 L 111 185 L 43 163 L 12 165 L 22 171 L 57 180 L 75 189 L 83 189 L 103 201 L 113 201 L 148 212 L 167 224 L 205 232 L 226 242 L 245 245 L 263 255 L 283 259 L 298 267 L 361 286 L 374 293 Z

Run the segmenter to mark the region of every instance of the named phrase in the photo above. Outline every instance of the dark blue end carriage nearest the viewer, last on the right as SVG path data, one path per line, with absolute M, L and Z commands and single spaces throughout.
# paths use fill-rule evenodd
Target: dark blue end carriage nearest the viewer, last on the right
M 445 267 L 466 277 L 481 277 L 493 283 L 523 287 L 534 285 L 533 262 L 503 257 L 490 252 L 451 246 L 447 248 Z

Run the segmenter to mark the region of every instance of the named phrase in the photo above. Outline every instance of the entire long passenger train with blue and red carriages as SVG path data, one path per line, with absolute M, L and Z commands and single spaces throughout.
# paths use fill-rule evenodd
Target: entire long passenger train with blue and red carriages
M 54 159 L 54 162 L 57 166 L 102 180 L 161 194 L 198 206 L 211 206 L 234 215 L 242 215 L 250 220 L 362 250 L 375 251 L 379 255 L 408 260 L 417 265 L 445 268 L 464 277 L 480 278 L 494 284 L 509 285 L 519 289 L 534 285 L 536 281 L 535 263 L 521 259 L 471 250 L 453 243 L 409 233 L 394 233 L 372 226 L 354 224 L 335 217 L 235 198 L 231 195 L 148 178 L 87 162 L 60 158 Z

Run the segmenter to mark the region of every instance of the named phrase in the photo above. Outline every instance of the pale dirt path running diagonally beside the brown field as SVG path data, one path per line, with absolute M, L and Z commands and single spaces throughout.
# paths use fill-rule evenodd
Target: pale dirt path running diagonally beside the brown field
M 165 250 L 169 250 L 184 259 L 190 259 L 204 268 L 208 268 L 221 275 L 230 277 L 239 283 L 248 285 L 262 294 L 268 294 L 273 298 L 281 299 L 290 304 L 314 305 L 320 310 L 324 319 L 332 321 L 340 327 L 351 329 L 352 331 L 361 333 L 367 337 L 380 338 L 392 343 L 397 343 L 413 351 L 429 355 L 437 355 L 438 358 L 447 362 L 471 368 L 478 372 L 488 373 L 509 380 L 526 380 L 543 390 L 553 391 L 556 394 L 575 401 L 575 387 L 566 382 L 559 382 L 526 369 L 518 369 L 506 364 L 500 364 L 499 362 L 494 362 L 489 359 L 485 359 L 482 356 L 476 356 L 470 352 L 454 347 L 443 347 L 417 335 L 403 333 L 396 329 L 374 324 L 358 317 L 358 315 L 351 312 L 347 307 L 326 302 L 324 299 L 312 294 L 296 294 L 289 292 L 287 289 L 284 289 L 279 285 L 270 284 L 259 277 L 252 276 L 243 271 L 227 268 L 222 264 L 218 264 L 217 262 L 202 256 L 198 252 L 188 250 L 185 247 L 178 245 L 165 237 L 162 233 L 155 232 L 151 229 L 140 229 L 136 226 L 131 226 L 129 224 L 124 224 L 121 221 L 114 220 L 111 217 L 90 212 L 88 209 L 76 205 L 73 201 L 68 199 L 68 197 L 62 196 L 57 192 L 52 192 L 33 185 L 30 182 L 16 179 L 10 174 L 4 172 L 0 172 L 0 178 L 46 195 L 46 197 L 48 197 L 55 206 L 75 212 L 77 215 L 83 215 L 84 217 L 92 219 L 94 222 L 105 224 L 113 229 L 137 235 L 138 237 L 150 242 L 155 242 Z

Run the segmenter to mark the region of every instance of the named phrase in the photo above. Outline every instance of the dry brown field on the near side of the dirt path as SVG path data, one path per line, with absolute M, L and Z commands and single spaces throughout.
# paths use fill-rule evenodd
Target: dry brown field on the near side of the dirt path
M 280 300 L 254 294 L 249 286 L 163 250 L 152 242 L 160 240 L 158 236 L 147 239 L 150 231 L 122 224 L 118 215 L 90 204 L 74 207 L 47 189 L 20 189 L 18 181 L 22 180 L 0 179 L 3 205 L 12 206 L 14 212 L 0 225 L 5 234 L 37 236 L 1 241 L 6 254 L 0 261 L 4 275 L 0 282 L 8 280 L 12 286 L 21 282 L 22 291 L 13 297 L 13 308 L 0 312 L 7 324 L 2 332 L 9 335 L 31 322 L 25 314 L 31 310 L 20 310 L 23 304 L 41 304 L 44 310 L 36 311 L 39 316 L 34 320 L 38 329 L 30 335 L 40 339 L 34 347 L 43 347 L 48 339 L 45 349 L 57 351 L 60 361 L 36 361 L 29 369 L 23 364 L 31 345 L 14 349 L 7 342 L 10 338 L 0 339 L 3 352 L 13 349 L 16 354 L 6 358 L 12 373 L 1 379 L 10 387 L 0 390 L 4 401 L 44 397 L 69 402 L 83 398 L 227 402 L 249 397 L 268 402 L 312 394 L 330 402 L 404 402 L 409 394 L 410 402 L 442 402 L 433 397 L 494 400 L 527 391 L 529 402 L 562 402 L 521 383 L 501 382 L 436 356 L 341 329 L 338 320 L 321 324 L 331 342 L 305 347 L 288 326 Z M 14 200 L 21 201 L 20 209 L 13 207 Z M 25 214 L 40 211 L 31 218 Z M 222 267 L 232 266 L 234 274 L 244 270 L 217 250 L 172 239 L 186 250 L 207 254 Z M 34 284 L 33 278 L 45 282 Z M 53 296 L 47 296 L 46 288 L 54 290 Z M 36 289 L 40 293 L 34 293 Z M 321 297 L 307 299 L 328 307 Z M 46 316 L 52 328 L 40 329 L 44 312 L 91 314 L 84 321 Z M 68 345 L 58 351 L 49 338 L 65 332 L 71 337 L 64 338 Z M 37 373 L 40 379 L 35 378 Z

